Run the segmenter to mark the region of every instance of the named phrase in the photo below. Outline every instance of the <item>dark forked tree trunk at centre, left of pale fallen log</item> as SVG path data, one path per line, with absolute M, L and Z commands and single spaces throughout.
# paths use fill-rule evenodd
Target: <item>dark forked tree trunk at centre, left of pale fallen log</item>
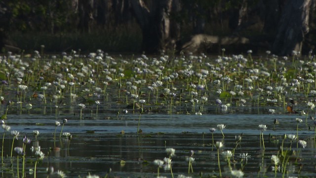
M 148 8 L 143 0 L 131 0 L 132 9 L 142 29 L 144 51 L 152 53 L 164 49 L 170 37 L 171 4 L 172 0 L 153 0 L 152 8 Z

